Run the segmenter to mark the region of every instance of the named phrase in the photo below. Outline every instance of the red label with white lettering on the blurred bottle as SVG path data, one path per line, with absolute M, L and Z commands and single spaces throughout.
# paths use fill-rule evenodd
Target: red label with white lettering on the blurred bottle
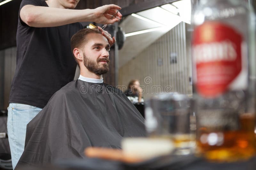
M 206 22 L 194 30 L 193 62 L 197 92 L 215 97 L 228 90 L 242 70 L 242 36 L 231 26 Z

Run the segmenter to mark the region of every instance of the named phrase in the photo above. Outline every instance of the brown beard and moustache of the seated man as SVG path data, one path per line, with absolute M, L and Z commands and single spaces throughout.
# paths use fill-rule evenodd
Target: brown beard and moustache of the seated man
M 107 63 L 104 63 L 103 66 L 100 66 L 100 61 L 107 61 Z M 109 62 L 110 60 L 108 58 L 98 58 L 97 62 L 92 61 L 84 54 L 84 66 L 92 73 L 97 75 L 106 74 L 109 70 Z

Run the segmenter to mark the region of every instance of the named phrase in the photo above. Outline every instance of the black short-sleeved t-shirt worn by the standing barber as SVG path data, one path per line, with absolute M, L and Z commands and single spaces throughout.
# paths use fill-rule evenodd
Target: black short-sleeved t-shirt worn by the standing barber
M 28 4 L 48 6 L 44 0 L 22 0 L 20 9 Z M 56 91 L 74 79 L 77 64 L 71 53 L 70 39 L 82 28 L 80 23 L 30 27 L 20 19 L 19 11 L 17 66 L 10 103 L 43 108 Z

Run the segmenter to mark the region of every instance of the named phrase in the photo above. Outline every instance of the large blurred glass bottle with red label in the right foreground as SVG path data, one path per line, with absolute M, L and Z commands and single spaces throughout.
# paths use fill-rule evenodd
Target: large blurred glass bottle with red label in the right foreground
M 255 154 L 255 16 L 240 0 L 202 0 L 192 23 L 198 152 L 248 159 Z

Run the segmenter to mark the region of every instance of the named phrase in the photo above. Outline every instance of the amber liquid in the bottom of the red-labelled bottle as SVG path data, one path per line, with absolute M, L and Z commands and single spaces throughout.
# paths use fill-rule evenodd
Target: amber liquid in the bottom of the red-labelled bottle
M 249 159 L 255 155 L 255 116 L 246 113 L 242 114 L 239 120 L 240 130 L 238 131 L 210 131 L 205 127 L 198 129 L 196 139 L 198 153 L 208 160 L 227 162 Z M 213 138 L 210 134 L 213 134 L 211 136 Z M 217 136 L 214 134 L 222 135 L 221 139 L 218 139 L 220 142 L 216 145 L 213 145 Z

